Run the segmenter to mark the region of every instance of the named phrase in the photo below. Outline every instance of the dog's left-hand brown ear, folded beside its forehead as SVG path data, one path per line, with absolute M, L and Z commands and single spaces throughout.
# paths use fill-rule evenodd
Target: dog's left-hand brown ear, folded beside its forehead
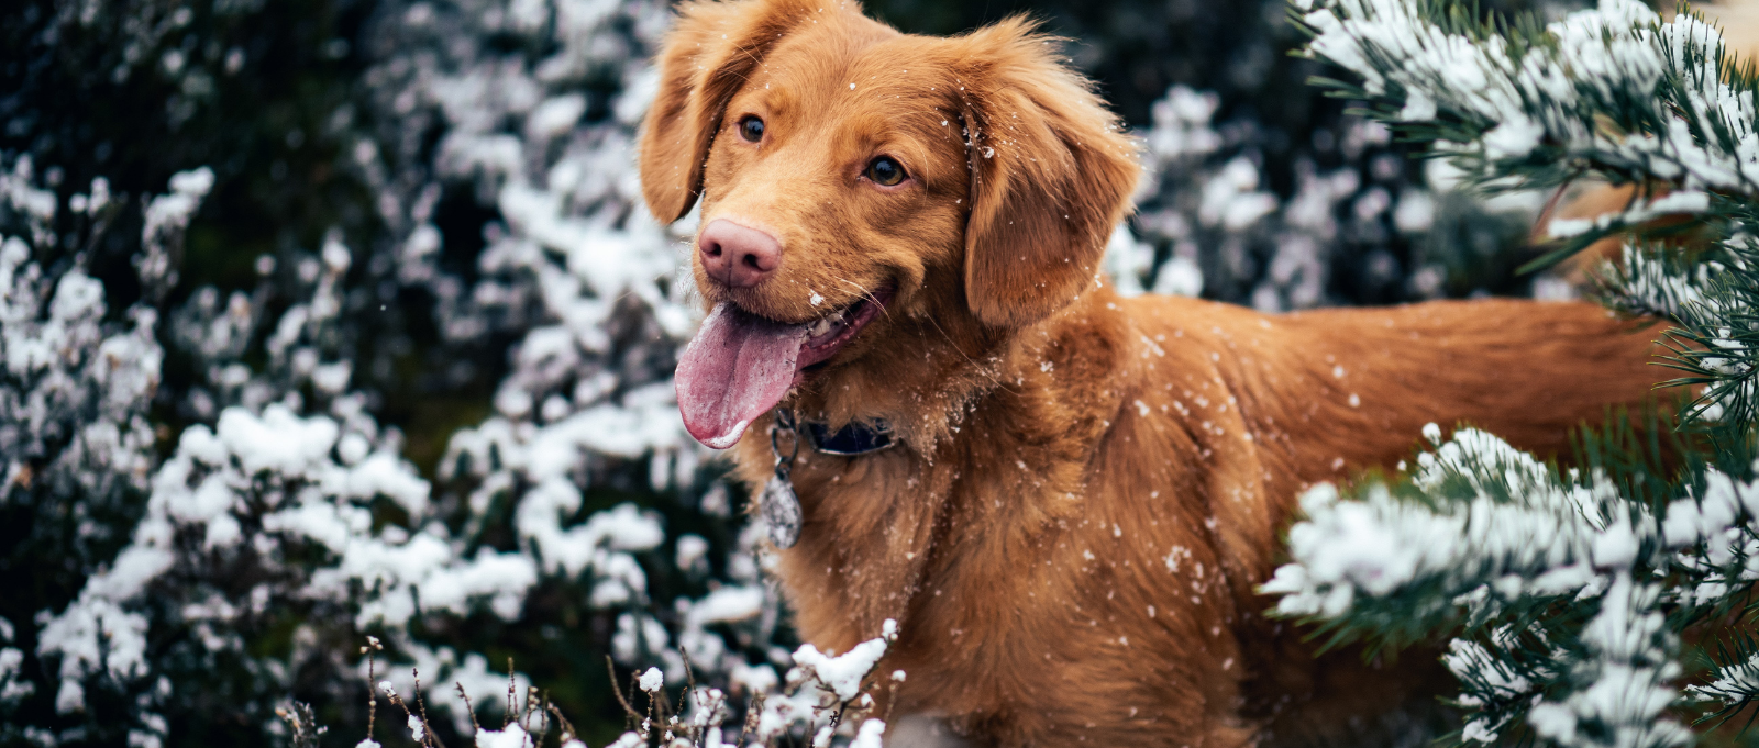
M 726 102 L 788 32 L 811 21 L 807 0 L 698 0 L 679 7 L 660 49 L 660 91 L 642 123 L 642 197 L 660 223 L 702 195 L 702 167 Z

